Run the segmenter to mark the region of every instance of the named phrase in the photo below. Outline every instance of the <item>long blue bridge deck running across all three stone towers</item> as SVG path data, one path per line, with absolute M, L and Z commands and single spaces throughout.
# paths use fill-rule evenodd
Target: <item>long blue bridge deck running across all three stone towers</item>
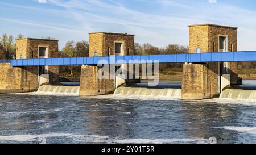
M 177 63 L 177 62 L 233 62 L 256 61 L 256 51 L 245 52 L 212 52 L 187 53 L 167 55 L 137 55 L 137 56 L 103 56 L 103 57 L 67 57 L 67 58 L 37 58 L 22 60 L 3 60 L 11 62 L 11 66 L 51 66 L 51 65 L 97 65 L 97 64 L 142 64 L 147 62 Z

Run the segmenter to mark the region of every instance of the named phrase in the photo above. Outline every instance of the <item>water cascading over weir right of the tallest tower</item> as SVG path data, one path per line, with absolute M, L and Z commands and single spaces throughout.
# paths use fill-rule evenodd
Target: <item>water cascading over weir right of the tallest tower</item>
M 220 98 L 229 99 L 256 99 L 256 90 L 225 89 Z

